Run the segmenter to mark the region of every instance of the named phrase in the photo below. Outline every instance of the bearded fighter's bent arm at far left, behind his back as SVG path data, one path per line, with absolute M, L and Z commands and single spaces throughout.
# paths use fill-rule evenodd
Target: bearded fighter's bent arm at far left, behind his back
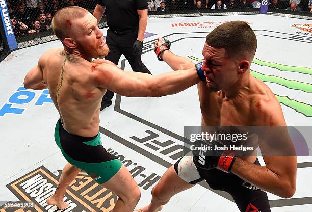
M 36 65 L 26 74 L 24 78 L 25 88 L 33 90 L 42 90 L 47 88 L 47 84 L 43 80 L 42 72 L 42 65 L 46 60 L 46 57 L 46 54 L 43 54 L 38 61 L 38 65 Z

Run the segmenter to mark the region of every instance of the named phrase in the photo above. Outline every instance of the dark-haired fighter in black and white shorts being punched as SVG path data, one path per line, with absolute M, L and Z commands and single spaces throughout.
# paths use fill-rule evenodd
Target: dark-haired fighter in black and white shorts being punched
M 173 70 L 194 66 L 187 58 L 170 52 L 169 44 L 163 38 L 155 44 L 160 60 Z M 201 67 L 206 80 L 197 84 L 202 126 L 285 126 L 280 104 L 270 88 L 250 74 L 256 48 L 256 36 L 243 21 L 221 24 L 207 35 Z M 185 156 L 152 189 L 151 203 L 137 211 L 160 211 L 173 195 L 202 180 L 214 190 L 228 192 L 240 211 L 270 211 L 263 190 L 283 198 L 293 196 L 296 190 L 297 158 L 293 156 L 293 144 L 290 139 L 282 142 L 292 154 L 263 156 L 265 167 L 259 165 L 256 151 L 246 157 L 223 152 L 204 160 Z M 268 141 L 265 145 L 270 148 L 271 144 Z

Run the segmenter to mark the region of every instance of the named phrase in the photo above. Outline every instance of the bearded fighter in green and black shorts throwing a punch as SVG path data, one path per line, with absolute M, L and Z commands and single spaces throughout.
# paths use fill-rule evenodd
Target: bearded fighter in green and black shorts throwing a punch
M 24 79 L 28 89 L 48 88 L 60 119 L 55 141 L 69 162 L 58 187 L 47 203 L 64 209 L 65 192 L 80 170 L 118 195 L 114 211 L 133 211 L 140 190 L 129 171 L 103 148 L 99 134 L 99 111 L 103 94 L 110 89 L 123 96 L 174 94 L 199 82 L 195 66 L 158 76 L 122 71 L 107 60 L 108 47 L 96 18 L 80 7 L 65 7 L 52 20 L 53 32 L 63 48 L 50 49 Z M 111 208 L 112 209 L 112 208 Z

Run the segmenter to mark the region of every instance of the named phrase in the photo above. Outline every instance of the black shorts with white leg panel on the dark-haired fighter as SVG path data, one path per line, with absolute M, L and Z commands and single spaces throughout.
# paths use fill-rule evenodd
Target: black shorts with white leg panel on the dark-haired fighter
M 246 182 L 233 173 L 225 173 L 218 169 L 206 170 L 192 163 L 186 163 L 187 157 L 183 157 L 174 164 L 175 172 L 187 176 L 186 179 L 191 184 L 196 184 L 206 180 L 210 188 L 229 193 L 241 212 L 261 211 L 269 212 L 270 205 L 267 193 L 256 188 L 253 184 Z M 258 159 L 254 164 L 259 165 Z M 197 172 L 194 174 L 194 172 Z M 189 176 L 189 177 L 188 177 Z M 192 180 L 192 181 L 190 181 Z

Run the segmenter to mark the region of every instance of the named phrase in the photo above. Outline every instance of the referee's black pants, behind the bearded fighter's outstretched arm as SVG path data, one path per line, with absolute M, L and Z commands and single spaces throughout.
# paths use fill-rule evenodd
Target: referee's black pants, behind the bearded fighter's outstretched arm
M 110 48 L 109 54 L 105 57 L 106 60 L 109 60 L 116 65 L 121 57 L 121 54 L 125 56 L 125 58 L 129 61 L 131 68 L 133 71 L 148 73 L 151 74 L 150 71 L 146 68 L 146 66 L 142 63 L 141 55 L 142 51 L 134 55 L 133 54 L 133 44 L 138 38 L 138 28 L 134 28 L 132 30 L 127 30 L 124 32 L 114 32 L 111 29 L 108 29 L 106 36 L 106 44 Z M 105 95 L 103 96 L 102 101 L 110 102 L 114 97 L 114 92 L 107 90 Z

